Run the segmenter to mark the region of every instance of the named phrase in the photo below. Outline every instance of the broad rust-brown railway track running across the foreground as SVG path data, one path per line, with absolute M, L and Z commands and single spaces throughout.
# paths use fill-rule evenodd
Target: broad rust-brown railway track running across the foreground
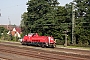
M 70 54 L 64 52 L 55 52 L 55 51 L 45 51 L 34 48 L 23 48 L 18 46 L 2 45 L 0 44 L 0 51 L 23 55 L 33 58 L 39 58 L 44 60 L 89 60 L 90 55 L 79 55 L 79 54 Z

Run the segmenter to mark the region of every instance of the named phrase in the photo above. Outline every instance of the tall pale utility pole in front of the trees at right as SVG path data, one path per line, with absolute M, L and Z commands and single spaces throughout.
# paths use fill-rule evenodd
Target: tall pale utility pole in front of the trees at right
M 74 3 L 72 3 L 72 44 L 76 44 L 74 31 L 75 31 L 75 8 Z

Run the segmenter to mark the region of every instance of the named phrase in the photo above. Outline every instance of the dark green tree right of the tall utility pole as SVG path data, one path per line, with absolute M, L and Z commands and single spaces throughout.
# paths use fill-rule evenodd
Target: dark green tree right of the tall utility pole
M 76 3 L 75 32 L 77 43 L 82 45 L 90 45 L 90 1 L 74 0 L 74 2 Z

